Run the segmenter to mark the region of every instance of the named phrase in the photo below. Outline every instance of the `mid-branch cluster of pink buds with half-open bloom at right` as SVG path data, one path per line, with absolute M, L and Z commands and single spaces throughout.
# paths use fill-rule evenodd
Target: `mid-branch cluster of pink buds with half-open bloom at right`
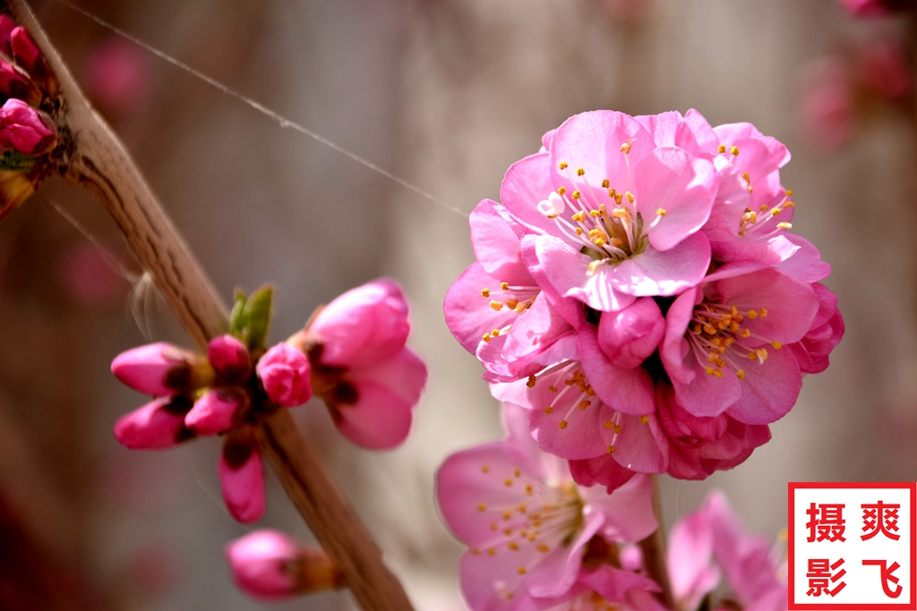
M 405 345 L 410 328 L 401 289 L 381 279 L 344 293 L 270 349 L 243 341 L 242 329 L 213 339 L 206 355 L 164 343 L 128 350 L 112 373 L 154 399 L 119 419 L 115 437 L 130 449 L 160 449 L 223 435 L 226 508 L 240 522 L 257 521 L 265 508 L 254 427 L 261 416 L 315 394 L 351 442 L 385 449 L 404 441 L 426 381 L 423 361 Z

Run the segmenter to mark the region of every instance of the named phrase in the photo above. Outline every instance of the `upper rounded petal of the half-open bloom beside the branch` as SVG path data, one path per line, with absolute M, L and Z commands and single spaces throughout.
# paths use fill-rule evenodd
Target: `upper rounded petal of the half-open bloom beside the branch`
M 411 324 L 401 288 L 381 278 L 331 301 L 308 331 L 322 341 L 323 365 L 357 366 L 401 351 Z

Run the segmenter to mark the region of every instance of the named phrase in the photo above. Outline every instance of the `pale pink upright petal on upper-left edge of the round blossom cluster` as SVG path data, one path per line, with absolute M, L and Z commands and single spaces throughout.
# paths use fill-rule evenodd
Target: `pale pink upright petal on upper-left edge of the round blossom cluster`
M 535 282 L 529 276 L 522 262 L 519 236 L 507 223 L 503 206 L 491 200 L 482 200 L 471 211 L 471 246 L 474 256 L 484 271 L 500 282 L 514 286 L 532 286 Z

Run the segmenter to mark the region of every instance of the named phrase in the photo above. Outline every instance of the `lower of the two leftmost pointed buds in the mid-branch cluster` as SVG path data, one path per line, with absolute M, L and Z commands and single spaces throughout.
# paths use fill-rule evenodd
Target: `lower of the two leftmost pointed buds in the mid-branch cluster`
M 187 397 L 150 401 L 117 420 L 115 439 L 131 450 L 171 448 L 194 436 L 184 425 L 188 409 L 191 409 L 191 399 Z

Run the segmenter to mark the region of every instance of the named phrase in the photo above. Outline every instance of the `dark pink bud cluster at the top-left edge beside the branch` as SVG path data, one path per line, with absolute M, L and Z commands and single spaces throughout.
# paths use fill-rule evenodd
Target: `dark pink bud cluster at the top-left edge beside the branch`
M 0 218 L 16 210 L 47 173 L 37 156 L 57 146 L 50 113 L 58 83 L 24 27 L 0 14 Z

